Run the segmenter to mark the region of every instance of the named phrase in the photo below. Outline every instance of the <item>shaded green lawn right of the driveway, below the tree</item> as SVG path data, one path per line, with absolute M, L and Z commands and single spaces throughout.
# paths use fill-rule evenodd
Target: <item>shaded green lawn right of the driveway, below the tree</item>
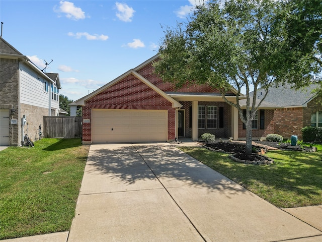
M 269 151 L 273 165 L 245 165 L 205 148 L 180 149 L 279 208 L 322 205 L 322 147 L 315 153 Z

